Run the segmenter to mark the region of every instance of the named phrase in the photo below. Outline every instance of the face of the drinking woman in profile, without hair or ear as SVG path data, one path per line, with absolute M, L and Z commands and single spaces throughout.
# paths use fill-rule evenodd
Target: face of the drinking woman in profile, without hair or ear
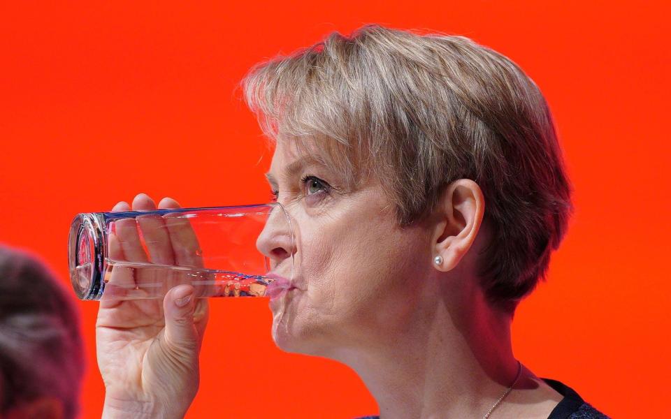
M 268 180 L 291 217 L 294 248 L 284 224 L 272 221 L 257 246 L 284 277 L 294 253 L 297 288 L 270 302 L 277 345 L 338 359 L 403 327 L 417 282 L 431 271 L 431 235 L 396 226 L 395 205 L 377 181 L 347 190 L 338 172 L 311 155 L 277 142 Z

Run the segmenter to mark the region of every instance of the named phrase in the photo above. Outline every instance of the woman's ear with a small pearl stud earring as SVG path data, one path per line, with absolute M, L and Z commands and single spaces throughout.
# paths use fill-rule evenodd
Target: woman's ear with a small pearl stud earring
M 438 206 L 432 262 L 436 269 L 453 270 L 475 242 L 484 216 L 484 195 L 477 183 L 458 179 L 447 186 Z

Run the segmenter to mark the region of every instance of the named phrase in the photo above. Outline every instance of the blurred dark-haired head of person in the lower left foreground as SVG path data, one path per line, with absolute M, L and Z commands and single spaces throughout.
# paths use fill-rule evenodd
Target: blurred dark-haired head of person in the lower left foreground
M 0 418 L 75 418 L 83 372 L 65 288 L 36 258 L 0 245 Z

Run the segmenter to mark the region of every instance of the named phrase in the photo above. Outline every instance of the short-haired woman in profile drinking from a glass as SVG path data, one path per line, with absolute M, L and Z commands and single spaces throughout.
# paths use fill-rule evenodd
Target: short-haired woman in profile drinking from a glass
M 605 417 L 512 353 L 515 307 L 572 208 L 547 104 L 516 64 L 467 38 L 368 26 L 244 86 L 295 221 L 294 247 L 271 224 L 257 242 L 275 274 L 294 263 L 270 302 L 280 348 L 352 367 L 382 418 Z M 115 210 L 130 207 L 154 203 Z M 106 417 L 185 413 L 207 312 L 191 293 L 168 293 L 165 325 L 160 307 L 101 304 Z

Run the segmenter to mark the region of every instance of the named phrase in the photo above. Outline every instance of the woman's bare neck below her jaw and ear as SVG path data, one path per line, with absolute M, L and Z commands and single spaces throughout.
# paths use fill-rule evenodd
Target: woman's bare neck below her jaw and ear
M 491 310 L 477 290 L 459 298 L 425 300 L 393 333 L 342 354 L 383 418 L 482 417 L 512 385 L 510 316 Z

